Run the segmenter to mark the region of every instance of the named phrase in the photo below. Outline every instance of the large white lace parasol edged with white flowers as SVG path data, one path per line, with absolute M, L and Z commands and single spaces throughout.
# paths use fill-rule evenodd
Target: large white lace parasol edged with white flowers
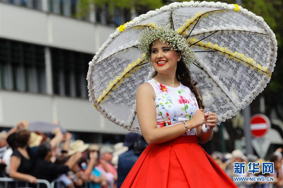
M 137 41 L 145 27 L 157 26 L 177 31 L 195 52 L 191 77 L 219 123 L 251 103 L 270 80 L 277 42 L 262 17 L 237 4 L 171 3 L 118 27 L 89 63 L 90 101 L 119 126 L 140 131 L 136 89 L 150 79 L 152 65 Z

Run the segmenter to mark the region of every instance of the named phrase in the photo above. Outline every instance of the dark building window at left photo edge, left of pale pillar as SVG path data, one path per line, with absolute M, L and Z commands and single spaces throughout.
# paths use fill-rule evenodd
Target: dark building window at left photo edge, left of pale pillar
M 46 93 L 44 47 L 0 39 L 1 89 Z

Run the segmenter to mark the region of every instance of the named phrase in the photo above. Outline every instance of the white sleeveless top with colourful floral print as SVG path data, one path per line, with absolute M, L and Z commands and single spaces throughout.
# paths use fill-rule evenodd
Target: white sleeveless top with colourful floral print
M 188 121 L 199 109 L 197 99 L 190 88 L 180 83 L 178 87 L 165 86 L 154 79 L 147 81 L 155 91 L 157 127 L 169 127 Z M 187 134 L 184 134 L 187 135 Z M 190 135 L 197 135 L 193 128 Z

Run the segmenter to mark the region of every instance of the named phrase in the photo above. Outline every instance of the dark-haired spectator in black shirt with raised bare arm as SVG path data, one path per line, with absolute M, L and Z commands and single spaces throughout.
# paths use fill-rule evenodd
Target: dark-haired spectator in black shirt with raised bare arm
M 81 153 L 72 155 L 65 165 L 53 164 L 50 162 L 52 157 L 51 146 L 48 142 L 38 147 L 39 159 L 36 162 L 34 176 L 38 179 L 45 179 L 52 182 L 58 175 L 65 174 L 71 169 L 81 157 Z

